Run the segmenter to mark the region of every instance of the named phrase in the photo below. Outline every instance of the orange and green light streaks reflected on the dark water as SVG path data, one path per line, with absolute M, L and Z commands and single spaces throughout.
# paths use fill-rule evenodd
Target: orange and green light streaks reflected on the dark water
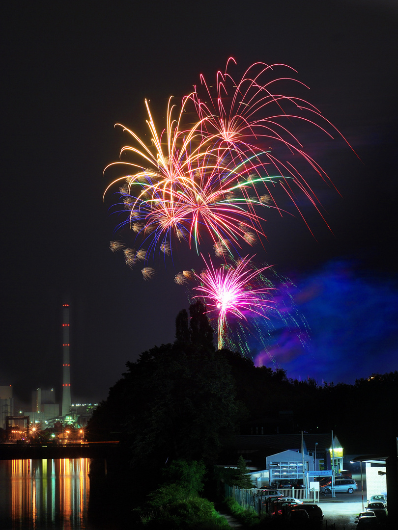
M 88 458 L 0 461 L 2 530 L 85 530 Z

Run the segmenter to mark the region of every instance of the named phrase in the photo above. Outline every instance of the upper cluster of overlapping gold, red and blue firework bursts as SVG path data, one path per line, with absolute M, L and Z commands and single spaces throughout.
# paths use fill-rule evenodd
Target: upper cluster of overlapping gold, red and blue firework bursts
M 283 213 L 278 190 L 303 219 L 297 192 L 321 214 L 296 161 L 305 164 L 306 174 L 311 170 L 327 182 L 328 177 L 304 151 L 292 124 L 310 124 L 328 136 L 324 127 L 335 129 L 310 103 L 282 94 L 285 83 L 299 82 L 275 76 L 275 70 L 294 72 L 292 68 L 256 63 L 235 80 L 229 74 L 233 64 L 229 59 L 225 72 L 218 72 L 214 87 L 201 76 L 201 85 L 180 105 L 173 105 L 170 98 L 160 133 L 145 101 L 148 145 L 121 126 L 134 145 L 123 147 L 120 161 L 106 170 L 122 166 L 128 174 L 114 180 L 106 192 L 119 184 L 122 208 L 115 213 L 122 221 L 116 230 L 131 229 L 148 249 L 146 260 L 157 249 L 170 255 L 173 244 L 184 240 L 197 254 L 200 245 L 210 241 L 219 257 L 230 254 L 231 248 L 239 252 L 242 245 L 254 245 L 265 235 L 266 209 Z M 193 123 L 186 123 L 193 113 Z

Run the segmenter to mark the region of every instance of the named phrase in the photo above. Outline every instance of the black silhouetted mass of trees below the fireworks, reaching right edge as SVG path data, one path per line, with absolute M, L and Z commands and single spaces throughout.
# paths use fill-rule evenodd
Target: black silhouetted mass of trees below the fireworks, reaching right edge
M 89 437 L 127 440 L 132 465 L 146 469 L 174 458 L 214 462 L 228 437 L 256 428 L 263 434 L 333 430 L 345 453 L 371 453 L 383 448 L 398 423 L 398 372 L 319 385 L 255 367 L 239 352 L 215 351 L 200 302 L 189 316 L 178 314 L 174 343 L 126 366 L 94 411 Z

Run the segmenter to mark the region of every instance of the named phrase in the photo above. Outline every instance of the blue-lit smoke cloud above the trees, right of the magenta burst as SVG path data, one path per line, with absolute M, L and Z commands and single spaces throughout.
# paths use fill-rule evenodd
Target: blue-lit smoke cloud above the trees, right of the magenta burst
M 396 282 L 361 276 L 353 263 L 333 261 L 297 283 L 293 299 L 310 340 L 298 347 L 294 330 L 285 329 L 271 351 L 288 377 L 353 383 L 398 369 Z M 255 363 L 270 365 L 261 355 Z

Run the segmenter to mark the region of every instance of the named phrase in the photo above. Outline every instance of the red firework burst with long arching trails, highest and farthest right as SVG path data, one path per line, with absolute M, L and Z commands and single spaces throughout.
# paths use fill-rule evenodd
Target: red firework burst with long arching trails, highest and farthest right
M 266 193 L 256 193 L 256 197 L 252 198 L 255 201 L 279 209 L 275 180 L 268 182 L 264 178 L 264 175 L 269 178 L 278 176 L 278 187 L 287 193 L 303 219 L 295 200 L 295 187 L 321 214 L 321 205 L 302 176 L 301 163 L 304 163 L 306 174 L 310 170 L 327 183 L 331 184 L 331 181 L 321 166 L 304 151 L 293 131 L 297 128 L 295 124 L 301 124 L 315 127 L 330 138 L 333 136 L 328 130 L 342 137 L 341 133 L 314 105 L 297 96 L 282 93 L 285 92 L 287 83 L 308 89 L 304 83 L 291 77 L 292 74 L 297 74 L 295 69 L 284 64 L 255 63 L 237 79 L 229 73 L 230 65 L 236 65 L 233 58 L 228 59 L 224 73 L 217 73 L 215 84 L 207 84 L 201 75 L 201 85 L 195 87 L 193 101 L 200 117 L 203 142 L 211 144 L 213 151 L 217 149 L 229 157 L 236 166 L 244 164 L 248 171 L 248 181 L 264 184 Z M 276 75 L 279 70 L 282 70 L 283 76 Z M 285 70 L 287 75 L 284 75 Z M 278 154 L 274 152 L 275 149 Z M 296 162 L 293 164 L 289 159 Z M 257 192 L 256 188 L 255 191 Z M 250 205 L 249 200 L 248 206 Z

